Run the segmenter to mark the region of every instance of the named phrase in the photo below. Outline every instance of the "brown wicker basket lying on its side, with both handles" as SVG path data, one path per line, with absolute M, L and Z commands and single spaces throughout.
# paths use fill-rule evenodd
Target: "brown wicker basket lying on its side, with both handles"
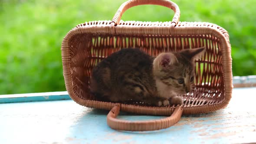
M 128 8 L 154 4 L 174 10 L 170 22 L 120 21 Z M 112 21 L 79 24 L 62 41 L 62 64 L 66 89 L 79 105 L 110 110 L 108 125 L 116 130 L 152 131 L 168 128 L 181 115 L 216 111 L 228 105 L 232 96 L 232 59 L 229 35 L 213 23 L 179 22 L 179 7 L 169 0 L 129 0 L 119 7 Z M 182 95 L 184 105 L 152 107 L 140 102 L 112 103 L 90 95 L 92 68 L 120 49 L 140 48 L 151 56 L 160 52 L 179 51 L 205 46 L 206 52 L 196 61 L 194 90 Z M 151 121 L 117 119 L 119 111 L 142 115 L 164 115 Z M 171 116 L 170 116 L 171 115 Z

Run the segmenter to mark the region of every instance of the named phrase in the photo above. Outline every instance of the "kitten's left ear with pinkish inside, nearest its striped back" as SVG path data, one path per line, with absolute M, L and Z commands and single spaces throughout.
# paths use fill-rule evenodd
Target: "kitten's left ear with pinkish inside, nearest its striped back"
M 165 68 L 168 65 L 174 64 L 175 62 L 177 62 L 177 58 L 176 56 L 174 56 L 174 54 L 169 52 L 169 53 L 163 53 L 161 55 L 161 61 L 160 61 L 161 67 Z

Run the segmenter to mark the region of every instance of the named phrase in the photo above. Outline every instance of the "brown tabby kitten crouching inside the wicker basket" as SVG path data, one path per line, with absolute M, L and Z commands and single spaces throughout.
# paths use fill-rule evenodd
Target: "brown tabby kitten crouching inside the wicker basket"
M 121 49 L 92 70 L 90 90 L 104 101 L 142 101 L 149 105 L 182 105 L 194 82 L 195 59 L 204 48 L 163 52 L 153 58 L 140 49 Z

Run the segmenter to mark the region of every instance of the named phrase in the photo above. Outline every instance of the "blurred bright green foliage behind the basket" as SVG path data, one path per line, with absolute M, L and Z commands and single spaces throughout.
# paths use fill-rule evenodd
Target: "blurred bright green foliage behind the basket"
M 79 23 L 112 20 L 126 0 L 0 0 L 0 94 L 65 91 L 61 43 Z M 181 21 L 229 32 L 233 75 L 256 75 L 255 0 L 174 0 Z M 133 7 L 122 20 L 170 21 L 161 6 Z

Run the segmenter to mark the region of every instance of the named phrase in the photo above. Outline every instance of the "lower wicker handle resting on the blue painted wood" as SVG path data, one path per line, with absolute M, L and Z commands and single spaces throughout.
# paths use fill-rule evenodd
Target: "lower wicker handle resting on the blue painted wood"
M 120 105 L 115 105 L 111 111 L 109 111 L 107 123 L 110 128 L 122 131 L 154 131 L 169 128 L 176 124 L 181 119 L 182 115 L 182 107 L 177 106 L 173 114 L 167 118 L 150 121 L 126 121 L 116 119 L 120 108 Z

